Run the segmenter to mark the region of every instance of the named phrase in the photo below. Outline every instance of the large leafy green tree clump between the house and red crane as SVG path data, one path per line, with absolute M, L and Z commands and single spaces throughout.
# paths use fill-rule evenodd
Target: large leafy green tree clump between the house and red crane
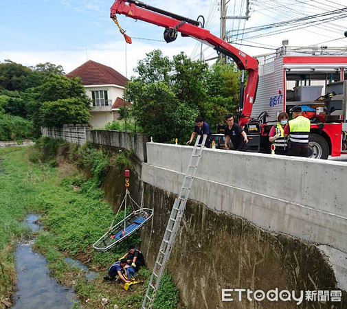
M 135 71 L 139 76 L 126 84 L 124 99 L 133 103 L 137 124 L 156 141 L 188 140 L 198 115 L 213 132 L 236 110 L 240 73 L 235 65 L 209 67 L 183 52 L 170 60 L 154 50 Z

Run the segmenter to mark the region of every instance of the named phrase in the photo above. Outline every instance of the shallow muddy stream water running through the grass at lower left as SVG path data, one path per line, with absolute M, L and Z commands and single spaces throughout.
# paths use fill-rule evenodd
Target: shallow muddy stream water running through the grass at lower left
M 36 215 L 27 216 L 25 223 L 32 231 L 41 229 L 36 224 L 37 219 Z M 32 250 L 33 242 L 21 242 L 16 249 L 17 292 L 12 308 L 72 308 L 78 302 L 76 295 L 69 287 L 49 277 L 47 260 Z

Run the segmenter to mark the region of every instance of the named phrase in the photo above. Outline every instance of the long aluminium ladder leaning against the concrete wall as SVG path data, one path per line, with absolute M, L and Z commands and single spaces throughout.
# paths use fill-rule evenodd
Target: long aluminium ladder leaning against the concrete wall
M 179 196 L 175 199 L 175 203 L 172 207 L 170 218 L 168 220 L 168 225 L 166 226 L 166 231 L 164 233 L 164 238 L 161 242 L 159 253 L 157 255 L 157 260 L 155 261 L 153 273 L 150 276 L 150 281 L 146 290 L 146 295 L 142 303 L 142 309 L 153 307 L 155 297 L 159 289 L 161 277 L 164 274 L 166 263 L 170 258 L 172 248 L 175 244 L 177 232 L 179 230 L 179 225 L 183 216 L 183 211 L 186 208 L 190 188 L 192 187 L 194 176 L 197 172 L 200 157 L 203 152 L 203 145 L 205 145 L 206 138 L 207 135 L 204 134 L 203 141 L 201 144 L 199 144 L 201 136 L 198 136 L 197 141 L 195 141 L 192 156 L 190 157 L 190 161 L 186 170 L 186 175 L 184 176 L 182 187 L 179 191 Z

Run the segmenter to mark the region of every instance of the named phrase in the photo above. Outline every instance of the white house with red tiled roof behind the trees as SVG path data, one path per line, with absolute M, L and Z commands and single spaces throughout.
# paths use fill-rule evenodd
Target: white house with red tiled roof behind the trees
M 90 113 L 93 128 L 103 128 L 107 122 L 117 119 L 120 106 L 132 107 L 131 103 L 122 99 L 128 78 L 111 67 L 88 60 L 66 76 L 78 76 L 82 80 L 92 100 Z

